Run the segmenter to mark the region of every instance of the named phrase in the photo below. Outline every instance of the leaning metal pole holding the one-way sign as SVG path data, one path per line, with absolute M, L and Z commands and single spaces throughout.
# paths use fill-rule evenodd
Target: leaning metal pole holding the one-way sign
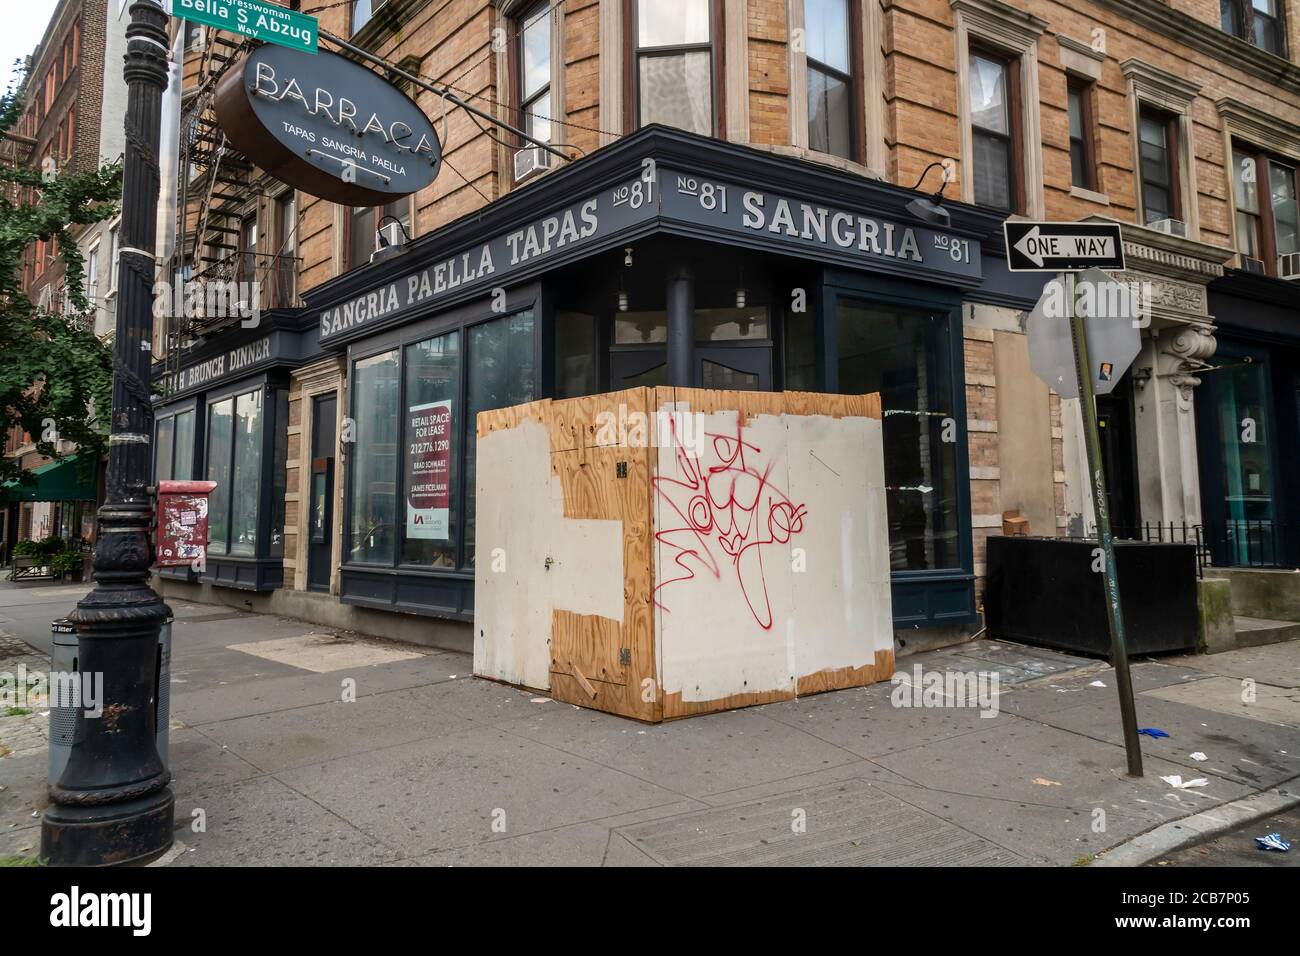
M 1106 472 L 1101 459 L 1101 429 L 1097 428 L 1097 405 L 1093 389 L 1092 359 L 1088 336 L 1079 310 L 1079 282 L 1066 273 L 1070 285 L 1070 337 L 1074 341 L 1074 364 L 1079 376 L 1079 406 L 1083 412 L 1083 434 L 1088 450 L 1088 473 L 1092 476 L 1092 502 L 1097 515 L 1097 538 L 1106 588 L 1106 623 L 1110 626 L 1110 657 L 1119 688 L 1119 715 L 1124 727 L 1124 750 L 1128 753 L 1128 775 L 1141 777 L 1141 747 L 1138 743 L 1138 710 L 1134 705 L 1132 675 L 1128 672 L 1128 649 L 1124 646 L 1124 617 L 1119 605 L 1119 572 L 1115 566 L 1115 540 L 1110 533 L 1110 510 L 1106 506 Z M 1117 319 L 1117 321 L 1122 321 Z

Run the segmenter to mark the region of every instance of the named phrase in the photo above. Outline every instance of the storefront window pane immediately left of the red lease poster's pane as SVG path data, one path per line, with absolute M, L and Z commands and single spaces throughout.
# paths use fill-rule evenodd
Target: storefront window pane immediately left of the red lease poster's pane
M 356 442 L 348 561 L 391 564 L 396 541 L 396 349 L 356 363 L 352 395 Z

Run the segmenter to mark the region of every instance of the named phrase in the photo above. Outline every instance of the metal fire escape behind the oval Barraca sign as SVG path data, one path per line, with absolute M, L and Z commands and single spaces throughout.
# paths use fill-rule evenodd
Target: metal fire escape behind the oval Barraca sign
M 166 310 L 169 377 L 179 371 L 187 351 L 217 332 L 238 326 L 242 308 L 300 304 L 298 258 L 250 248 L 243 241 L 242 216 L 248 215 L 255 199 L 257 170 L 230 146 L 213 109 L 217 83 L 252 43 L 222 30 L 208 29 L 200 35 L 205 35 L 202 48 L 187 52 L 185 69 L 177 243 L 168 269 L 176 285 L 183 282 L 192 293 L 194 304 Z M 256 303 L 248 302 L 250 287 L 256 290 Z

